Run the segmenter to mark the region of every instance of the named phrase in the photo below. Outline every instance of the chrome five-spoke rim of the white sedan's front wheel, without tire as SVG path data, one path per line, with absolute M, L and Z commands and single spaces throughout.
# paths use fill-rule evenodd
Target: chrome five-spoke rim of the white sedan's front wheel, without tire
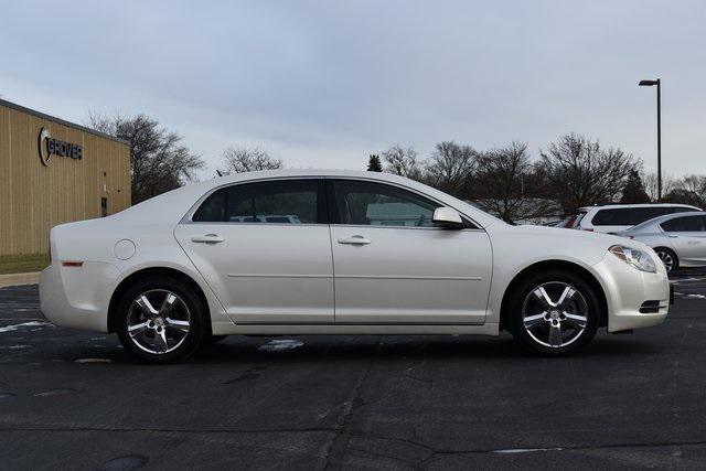
M 563 281 L 534 288 L 524 300 L 525 331 L 537 343 L 552 349 L 570 345 L 588 324 L 588 303 L 579 290 Z

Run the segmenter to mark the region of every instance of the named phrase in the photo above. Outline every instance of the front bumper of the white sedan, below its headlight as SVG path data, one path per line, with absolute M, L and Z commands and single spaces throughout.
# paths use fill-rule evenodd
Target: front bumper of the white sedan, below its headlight
M 608 303 L 608 332 L 659 325 L 666 319 L 672 300 L 670 280 L 662 264 L 657 272 L 640 271 L 608 253 L 593 266 Z M 656 312 L 643 313 L 645 301 L 657 301 Z

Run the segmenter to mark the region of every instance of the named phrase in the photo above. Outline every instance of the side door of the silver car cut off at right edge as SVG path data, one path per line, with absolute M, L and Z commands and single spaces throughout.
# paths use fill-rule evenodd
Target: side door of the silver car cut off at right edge
M 662 229 L 676 251 L 680 263 L 706 263 L 706 216 L 682 216 L 662 223 Z

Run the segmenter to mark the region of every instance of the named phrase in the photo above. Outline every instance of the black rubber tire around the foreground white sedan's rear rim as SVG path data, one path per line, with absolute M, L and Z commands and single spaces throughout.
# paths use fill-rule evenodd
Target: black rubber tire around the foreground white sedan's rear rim
M 141 315 L 141 313 L 138 312 L 139 308 L 137 307 L 137 304 L 133 304 L 133 302 L 138 297 L 140 297 L 140 295 L 148 292 L 161 293 L 164 291 L 175 295 L 180 301 L 183 301 L 183 304 L 180 303 L 179 306 L 183 306 L 188 309 L 188 311 L 185 312 L 188 312 L 189 315 L 189 328 L 188 332 L 183 336 L 181 336 L 183 332 L 179 332 L 179 339 L 173 342 L 176 345 L 173 345 L 172 351 L 164 351 L 162 353 L 150 353 L 140 347 L 138 345 L 139 341 L 133 340 L 130 333 L 128 333 L 128 317 Z M 117 304 L 116 328 L 118 338 L 120 339 L 120 342 L 122 343 L 125 350 L 129 354 L 141 361 L 154 364 L 183 361 L 193 355 L 194 352 L 196 352 L 199 346 L 202 344 L 204 336 L 207 335 L 207 315 L 205 312 L 206 311 L 202 306 L 201 299 L 199 298 L 194 289 L 180 279 L 164 277 L 139 280 L 122 295 Z M 154 329 L 157 329 L 157 327 Z M 161 327 L 161 329 L 163 329 L 164 332 L 168 332 L 165 327 Z M 145 329 L 145 332 L 147 339 L 141 338 L 142 340 L 147 340 L 149 342 L 150 334 L 152 334 L 152 339 L 156 339 L 156 331 L 150 332 Z M 179 342 L 180 339 L 183 340 Z M 167 342 L 167 345 L 169 345 L 169 341 Z

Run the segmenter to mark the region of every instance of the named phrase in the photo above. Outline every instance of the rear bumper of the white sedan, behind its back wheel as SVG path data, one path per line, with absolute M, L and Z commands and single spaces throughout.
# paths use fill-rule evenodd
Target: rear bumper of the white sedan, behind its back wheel
M 40 309 L 53 324 L 108 331 L 108 306 L 120 271 L 110 264 L 85 261 L 62 267 L 52 261 L 40 276 Z

